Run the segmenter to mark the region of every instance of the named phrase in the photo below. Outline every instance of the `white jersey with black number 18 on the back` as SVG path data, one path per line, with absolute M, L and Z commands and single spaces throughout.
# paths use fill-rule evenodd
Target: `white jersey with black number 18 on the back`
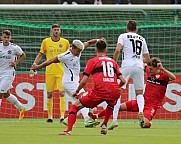
M 138 66 L 143 69 L 143 54 L 149 53 L 145 39 L 137 33 L 128 32 L 118 37 L 122 47 L 121 67 Z

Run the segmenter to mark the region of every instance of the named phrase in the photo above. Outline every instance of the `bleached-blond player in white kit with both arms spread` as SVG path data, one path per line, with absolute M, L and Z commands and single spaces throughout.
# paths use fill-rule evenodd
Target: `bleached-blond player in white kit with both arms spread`
M 95 44 L 97 42 L 97 39 L 92 39 L 90 41 L 85 42 L 84 44 L 80 40 L 74 40 L 72 43 L 72 48 L 67 50 L 63 54 L 59 54 L 58 56 L 47 60 L 43 62 L 40 65 L 34 64 L 32 66 L 32 70 L 41 69 L 46 66 L 51 66 L 53 63 L 62 63 L 64 67 L 64 75 L 62 79 L 62 85 L 65 90 L 65 93 L 70 96 L 72 99 L 74 99 L 74 102 L 77 100 L 72 97 L 72 94 L 76 91 L 78 85 L 79 85 L 79 73 L 80 73 L 80 56 L 81 52 L 84 50 L 84 48 L 87 48 L 91 44 Z M 80 90 L 80 95 L 85 92 L 84 89 Z M 80 112 L 82 113 L 84 117 L 85 127 L 94 127 L 99 124 L 99 122 L 90 120 L 90 117 L 88 116 L 89 109 L 84 108 L 81 109 Z M 63 121 L 64 124 L 67 123 L 65 119 Z

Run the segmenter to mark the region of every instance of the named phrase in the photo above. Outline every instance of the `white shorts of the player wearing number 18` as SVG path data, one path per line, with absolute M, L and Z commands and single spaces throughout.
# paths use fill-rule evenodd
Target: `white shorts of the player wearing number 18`
M 126 88 L 126 84 L 130 78 L 133 79 L 135 90 L 144 89 L 144 70 L 142 68 L 137 66 L 123 67 L 120 71 L 126 80 L 126 83 L 122 86 L 123 89 Z

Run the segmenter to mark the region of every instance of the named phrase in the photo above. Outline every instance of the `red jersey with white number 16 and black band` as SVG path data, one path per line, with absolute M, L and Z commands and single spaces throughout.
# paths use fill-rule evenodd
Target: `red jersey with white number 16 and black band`
M 90 59 L 84 69 L 83 75 L 92 75 L 94 81 L 93 91 L 101 97 L 119 97 L 120 86 L 117 78 L 121 75 L 118 64 L 107 56 L 97 56 Z

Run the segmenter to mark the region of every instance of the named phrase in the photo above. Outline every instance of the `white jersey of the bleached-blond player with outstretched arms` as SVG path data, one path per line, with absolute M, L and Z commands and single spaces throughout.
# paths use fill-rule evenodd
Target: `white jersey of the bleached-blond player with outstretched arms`
M 58 55 L 58 60 L 62 62 L 64 68 L 62 83 L 79 82 L 80 56 L 81 54 L 79 56 L 73 55 L 69 49 Z

